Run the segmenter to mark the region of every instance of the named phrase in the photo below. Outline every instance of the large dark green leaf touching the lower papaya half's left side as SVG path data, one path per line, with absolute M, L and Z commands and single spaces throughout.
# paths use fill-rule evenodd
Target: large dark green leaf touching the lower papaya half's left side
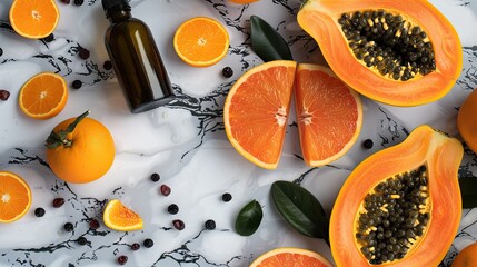
M 329 244 L 328 217 L 318 199 L 307 189 L 289 181 L 271 185 L 271 196 L 278 211 L 298 233 L 324 238 Z

